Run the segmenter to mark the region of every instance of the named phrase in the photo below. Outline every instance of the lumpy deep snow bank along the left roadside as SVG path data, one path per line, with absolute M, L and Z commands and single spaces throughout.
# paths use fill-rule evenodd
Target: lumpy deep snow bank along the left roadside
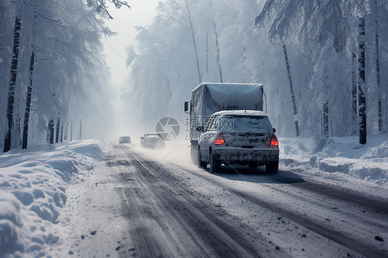
M 0 155 L 0 257 L 42 257 L 66 204 L 66 185 L 103 155 L 101 141 L 37 145 Z

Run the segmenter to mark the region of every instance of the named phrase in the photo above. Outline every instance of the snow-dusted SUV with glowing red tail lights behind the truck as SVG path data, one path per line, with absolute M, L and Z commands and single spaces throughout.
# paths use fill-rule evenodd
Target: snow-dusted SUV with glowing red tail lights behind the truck
M 266 172 L 277 173 L 278 139 L 269 118 L 261 111 L 232 110 L 215 112 L 198 140 L 198 166 L 220 172 L 221 165 L 241 164 L 266 166 Z

